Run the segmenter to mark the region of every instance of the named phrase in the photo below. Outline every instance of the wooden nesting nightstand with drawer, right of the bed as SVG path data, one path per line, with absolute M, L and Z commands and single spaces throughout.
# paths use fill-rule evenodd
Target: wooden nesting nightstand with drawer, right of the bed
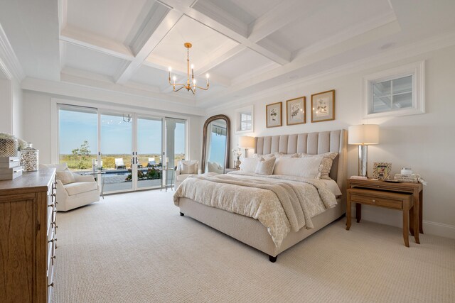
M 362 217 L 362 204 L 401 209 L 403 213 L 409 213 L 409 217 L 407 214 L 403 214 L 403 237 L 405 238 L 405 244 L 407 243 L 407 222 L 405 221 L 410 221 L 410 233 L 414 236 L 416 243 L 419 243 L 419 232 L 423 233 L 422 184 L 348 179 L 347 187 L 348 205 L 346 206 L 346 216 L 348 217 L 348 222 L 346 229 L 350 228 L 351 203 L 355 203 L 358 222 L 360 222 Z M 414 233 L 414 231 L 416 232 Z M 409 243 L 407 243 L 407 246 L 409 247 Z

